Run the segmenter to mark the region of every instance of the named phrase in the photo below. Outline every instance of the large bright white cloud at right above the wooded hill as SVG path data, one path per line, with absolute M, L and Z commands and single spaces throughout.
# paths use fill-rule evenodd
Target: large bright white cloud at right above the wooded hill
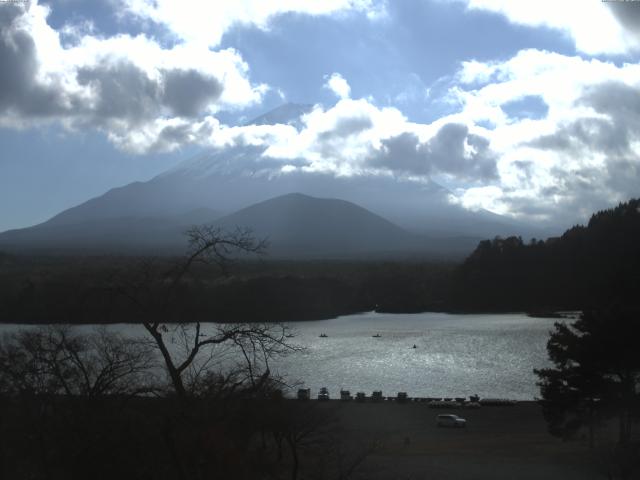
M 498 181 L 455 191 L 464 206 L 571 222 L 640 194 L 640 66 L 526 50 L 463 63 L 450 95 L 460 111 L 439 122 L 489 124 L 497 155 Z M 502 108 L 530 96 L 542 115 Z

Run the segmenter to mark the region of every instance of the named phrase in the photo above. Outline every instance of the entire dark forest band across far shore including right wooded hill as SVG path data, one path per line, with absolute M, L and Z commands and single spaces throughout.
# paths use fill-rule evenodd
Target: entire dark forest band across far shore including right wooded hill
M 191 265 L 185 258 L 0 254 L 0 322 L 139 322 L 131 294 L 165 322 L 277 322 L 356 312 L 583 310 L 638 305 L 640 200 L 595 213 L 561 237 L 480 242 L 462 263 L 257 260 Z M 129 296 L 118 294 L 122 290 Z M 133 299 L 136 300 L 136 299 Z M 139 299 L 138 299 L 139 300 Z

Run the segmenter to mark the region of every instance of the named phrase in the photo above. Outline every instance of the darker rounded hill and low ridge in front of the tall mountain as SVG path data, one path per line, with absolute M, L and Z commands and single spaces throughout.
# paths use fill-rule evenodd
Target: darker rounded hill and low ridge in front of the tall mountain
M 216 219 L 199 209 L 165 218 L 123 217 L 78 223 L 49 222 L 0 234 L 8 250 L 179 254 L 186 248 L 184 231 L 209 223 L 227 230 L 250 228 L 269 240 L 275 258 L 363 258 L 429 256 L 462 258 L 478 239 L 435 238 L 407 232 L 351 202 L 293 193 L 243 208 Z

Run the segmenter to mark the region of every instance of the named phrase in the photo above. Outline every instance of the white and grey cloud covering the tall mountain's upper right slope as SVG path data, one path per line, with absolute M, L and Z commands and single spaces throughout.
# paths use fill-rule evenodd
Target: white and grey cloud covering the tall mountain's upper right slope
M 327 109 L 316 106 L 303 116 L 299 129 L 247 125 L 220 133 L 228 136 L 227 145 L 264 146 L 262 157 L 280 162 L 288 172 L 393 175 L 424 182 L 445 176 L 474 185 L 498 179 L 489 140 L 467 125 L 412 123 L 399 110 L 365 99 L 343 99 Z

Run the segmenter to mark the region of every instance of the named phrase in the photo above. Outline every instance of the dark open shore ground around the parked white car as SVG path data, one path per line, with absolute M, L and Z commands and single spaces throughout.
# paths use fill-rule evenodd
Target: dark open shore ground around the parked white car
M 585 441 L 563 442 L 547 432 L 540 407 L 434 409 L 424 403 L 330 401 L 340 435 L 369 449 L 353 478 L 362 479 L 591 479 L 603 478 Z M 467 420 L 438 428 L 439 413 Z

